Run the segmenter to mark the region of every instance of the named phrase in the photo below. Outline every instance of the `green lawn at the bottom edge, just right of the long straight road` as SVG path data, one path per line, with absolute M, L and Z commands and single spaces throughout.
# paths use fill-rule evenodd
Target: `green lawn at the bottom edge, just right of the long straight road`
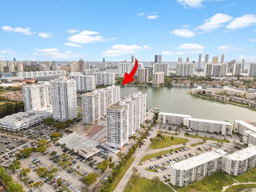
M 139 178 L 138 182 L 131 177 L 124 192 L 167 192 L 172 191 L 168 185 L 160 182 L 156 186 L 150 179 Z

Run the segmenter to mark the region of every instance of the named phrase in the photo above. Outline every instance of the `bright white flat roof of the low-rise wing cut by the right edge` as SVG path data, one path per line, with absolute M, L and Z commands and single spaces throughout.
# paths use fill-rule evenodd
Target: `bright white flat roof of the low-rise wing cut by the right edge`
M 252 156 L 256 156 L 256 146 L 249 144 L 248 147 L 246 147 L 240 151 L 237 151 L 235 153 L 232 153 L 232 154 L 226 156 L 226 158 L 228 158 L 230 160 L 234 160 L 234 161 L 243 161 Z

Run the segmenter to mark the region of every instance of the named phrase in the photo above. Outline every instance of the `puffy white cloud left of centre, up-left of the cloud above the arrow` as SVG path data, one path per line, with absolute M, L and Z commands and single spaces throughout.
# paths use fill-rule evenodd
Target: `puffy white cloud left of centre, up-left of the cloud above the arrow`
M 108 41 L 108 39 L 104 38 L 104 36 L 100 36 L 98 34 L 99 33 L 95 31 L 84 30 L 79 34 L 69 36 L 68 40 L 74 43 L 82 44 Z

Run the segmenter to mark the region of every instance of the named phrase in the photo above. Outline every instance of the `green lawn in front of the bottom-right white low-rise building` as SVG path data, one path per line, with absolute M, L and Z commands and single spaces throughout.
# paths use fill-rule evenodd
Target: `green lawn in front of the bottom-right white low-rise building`
M 213 192 L 221 192 L 222 191 L 222 186 L 227 186 L 228 184 L 226 184 L 226 178 L 225 178 L 225 174 L 223 174 L 222 172 L 216 172 L 210 176 L 206 176 L 204 178 L 204 180 L 206 181 L 206 186 L 203 186 L 202 184 L 202 180 L 196 181 L 194 182 L 194 184 L 196 185 L 196 190 L 199 192 L 205 192 L 206 190 L 204 190 L 205 188 L 208 189 L 208 191 Z M 219 184 L 216 184 L 214 180 L 219 181 Z M 234 181 L 235 182 L 235 181 Z M 169 183 L 170 184 L 170 183 Z M 170 184 L 172 186 L 172 184 Z M 178 187 L 178 186 L 172 186 L 177 192 L 187 192 L 188 190 L 191 189 L 191 185 L 190 184 L 186 187 Z M 214 187 L 216 187 L 216 190 L 214 190 Z

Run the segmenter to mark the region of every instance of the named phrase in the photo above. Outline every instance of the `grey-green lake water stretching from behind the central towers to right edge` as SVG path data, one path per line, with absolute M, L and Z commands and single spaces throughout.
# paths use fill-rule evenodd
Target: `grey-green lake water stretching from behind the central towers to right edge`
M 160 112 L 187 114 L 193 118 L 210 120 L 256 120 L 256 110 L 223 103 L 220 101 L 200 98 L 187 94 L 191 88 L 167 88 L 167 87 L 121 87 L 121 97 L 134 92 L 147 93 L 147 108 L 157 107 Z M 82 99 L 78 98 L 78 105 L 82 105 Z

